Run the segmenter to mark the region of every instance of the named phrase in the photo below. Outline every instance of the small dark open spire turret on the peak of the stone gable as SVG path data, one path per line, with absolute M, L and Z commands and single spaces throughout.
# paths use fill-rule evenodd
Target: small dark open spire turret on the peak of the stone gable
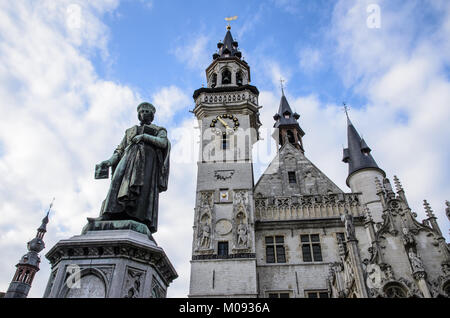
M 289 142 L 304 152 L 302 138 L 305 132 L 300 128 L 298 123 L 299 118 L 300 115 L 292 111 L 282 87 L 280 106 L 278 107 L 278 112 L 273 116 L 275 120 L 273 127 L 278 128 L 278 136 L 275 135 L 274 138 L 277 139 L 280 147 L 286 144 L 286 142 Z

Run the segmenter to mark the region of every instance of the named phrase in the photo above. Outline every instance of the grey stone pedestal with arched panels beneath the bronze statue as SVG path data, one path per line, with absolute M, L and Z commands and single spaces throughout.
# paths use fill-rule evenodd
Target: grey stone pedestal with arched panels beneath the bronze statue
M 46 298 L 164 298 L 178 277 L 148 228 L 134 221 L 89 219 L 82 234 L 59 241 Z

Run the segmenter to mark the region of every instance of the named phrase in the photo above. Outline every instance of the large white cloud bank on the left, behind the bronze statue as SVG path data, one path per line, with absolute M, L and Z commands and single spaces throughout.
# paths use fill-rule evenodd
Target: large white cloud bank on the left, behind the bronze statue
M 43 295 L 50 273 L 44 254 L 49 248 L 79 234 L 86 217 L 98 216 L 109 180 L 94 180 L 94 165 L 109 158 L 124 130 L 136 124 L 136 106 L 142 101 L 129 87 L 99 78 L 88 59 L 102 51 L 107 57 L 108 31 L 101 17 L 118 3 L 78 1 L 84 22 L 77 25 L 76 34 L 66 24 L 72 3 L 0 3 L 0 291 L 7 290 L 15 262 L 25 254 L 27 240 L 34 237 L 56 197 L 45 236 L 47 248 L 29 297 Z M 152 98 L 156 123 L 164 125 L 188 103 L 187 95 L 175 86 L 160 88 Z M 177 139 L 173 147 L 176 153 Z M 195 195 L 192 191 L 186 196 L 184 188 L 194 180 L 190 175 L 194 162 L 184 164 L 185 168 L 172 165 L 172 192 L 161 198 L 161 223 L 167 222 L 177 233 L 169 230 L 167 235 L 163 227 L 156 235 L 180 274 L 181 287 L 170 288 L 169 296 L 187 294 L 189 258 L 179 255 L 187 250 L 177 251 L 175 242 L 186 242 L 179 238 L 190 230 L 186 219 L 192 212 L 179 214 Z

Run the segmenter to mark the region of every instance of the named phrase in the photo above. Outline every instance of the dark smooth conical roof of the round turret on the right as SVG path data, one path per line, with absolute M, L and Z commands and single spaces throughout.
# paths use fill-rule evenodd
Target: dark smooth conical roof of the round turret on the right
M 344 156 L 342 158 L 343 162 L 348 163 L 347 185 L 349 185 L 348 180 L 350 176 L 357 171 L 363 169 L 377 169 L 383 171 L 378 167 L 377 163 L 375 162 L 375 159 L 370 154 L 371 149 L 364 141 L 364 139 L 359 136 L 355 126 L 353 126 L 352 122 L 350 121 L 348 114 L 347 114 L 347 142 L 348 148 L 344 149 L 343 151 Z

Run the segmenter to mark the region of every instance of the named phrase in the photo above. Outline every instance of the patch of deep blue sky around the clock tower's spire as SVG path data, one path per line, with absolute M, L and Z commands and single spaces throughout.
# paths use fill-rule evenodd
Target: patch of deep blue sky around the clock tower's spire
M 143 96 L 150 96 L 166 85 L 176 84 L 186 91 L 200 87 L 205 81 L 202 71 L 210 62 L 217 42 L 225 35 L 224 17 L 237 15 L 238 19 L 231 23 L 232 33 L 245 53 L 294 66 L 290 67 L 292 76 L 295 75 L 289 85 L 292 93 L 315 92 L 327 102 L 354 100 L 359 104 L 364 101 L 343 86 L 338 70 L 331 63 L 324 63 L 314 72 L 295 67 L 304 47 L 319 47 L 332 54 L 330 47 L 334 43 L 328 39 L 327 29 L 333 1 L 301 1 L 289 9 L 262 1 L 227 1 L 214 5 L 208 1 L 150 3 L 149 6 L 144 1 L 125 1 L 116 11 L 105 15 L 104 22 L 111 32 L 109 62 L 113 66 L 100 57 L 94 63 L 99 74 L 135 86 Z M 177 58 L 175 51 L 182 47 L 180 54 L 196 54 L 192 46 L 199 37 L 206 38 L 204 47 L 209 59 L 199 57 L 203 59 L 193 69 L 185 60 Z M 273 89 L 264 70 L 253 68 L 252 71 L 254 85 Z M 327 80 L 323 81 L 324 78 Z

